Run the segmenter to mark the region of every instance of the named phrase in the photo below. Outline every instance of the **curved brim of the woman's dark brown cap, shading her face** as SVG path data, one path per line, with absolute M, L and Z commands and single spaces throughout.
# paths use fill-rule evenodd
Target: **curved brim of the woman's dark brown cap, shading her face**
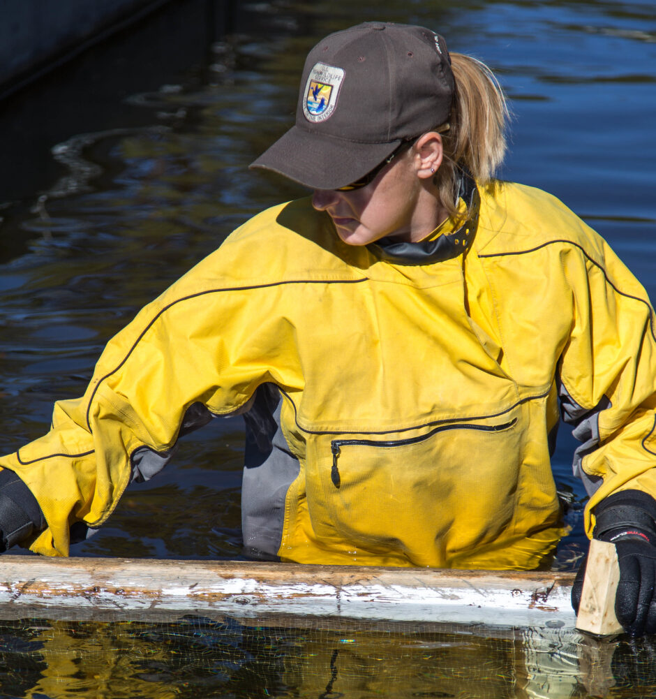
M 400 143 L 357 143 L 294 126 L 249 167 L 271 170 L 310 189 L 339 189 L 371 172 Z

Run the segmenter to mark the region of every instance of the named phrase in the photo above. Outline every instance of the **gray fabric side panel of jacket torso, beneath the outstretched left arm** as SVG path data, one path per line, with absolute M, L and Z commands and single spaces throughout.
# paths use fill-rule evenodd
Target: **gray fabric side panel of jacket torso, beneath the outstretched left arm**
M 256 559 L 277 559 L 287 491 L 300 470 L 280 428 L 281 408 L 278 389 L 263 384 L 251 410 L 244 415 L 242 535 L 244 554 Z

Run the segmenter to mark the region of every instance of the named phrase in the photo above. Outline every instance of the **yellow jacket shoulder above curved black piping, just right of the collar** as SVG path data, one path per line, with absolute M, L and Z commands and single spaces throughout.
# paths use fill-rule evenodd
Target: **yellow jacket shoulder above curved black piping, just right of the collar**
M 483 255 L 519 254 L 538 247 L 578 247 L 602 257 L 604 241 L 553 194 L 497 180 L 481 188 L 476 250 Z

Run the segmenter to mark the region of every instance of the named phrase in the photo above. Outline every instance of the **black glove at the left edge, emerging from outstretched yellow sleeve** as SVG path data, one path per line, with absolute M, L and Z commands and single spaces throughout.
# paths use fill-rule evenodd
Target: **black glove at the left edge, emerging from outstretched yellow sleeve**
M 41 507 L 27 485 L 8 469 L 0 471 L 0 553 L 34 531 L 45 529 Z

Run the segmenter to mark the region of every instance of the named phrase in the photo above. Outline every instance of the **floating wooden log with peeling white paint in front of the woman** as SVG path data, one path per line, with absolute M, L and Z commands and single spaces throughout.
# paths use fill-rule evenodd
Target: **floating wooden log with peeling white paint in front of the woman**
M 574 629 L 560 572 L 2 556 L 0 618 L 276 616 Z

